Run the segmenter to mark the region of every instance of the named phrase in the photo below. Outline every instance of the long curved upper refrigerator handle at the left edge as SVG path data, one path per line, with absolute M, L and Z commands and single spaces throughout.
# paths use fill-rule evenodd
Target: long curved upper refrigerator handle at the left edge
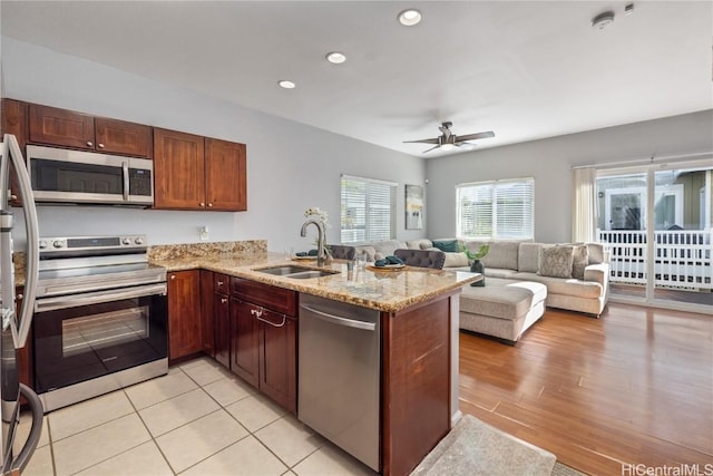
M 35 207 L 35 197 L 32 196 L 32 187 L 30 185 L 30 177 L 27 173 L 27 166 L 25 158 L 22 157 L 22 150 L 18 144 L 18 139 L 11 135 L 6 134 L 2 140 L 3 149 L 4 144 L 9 147 L 9 157 L 12 158 L 14 171 L 18 177 L 18 184 L 20 187 L 20 196 L 22 197 L 22 213 L 25 214 L 25 227 L 27 229 L 27 264 L 26 264 L 26 278 L 25 278 L 25 298 L 22 299 L 22 310 L 20 312 L 18 328 L 12 323 L 12 340 L 14 347 L 21 349 L 27 342 L 27 337 L 30 333 L 30 327 L 32 324 L 32 312 L 35 310 L 35 294 L 37 292 L 37 280 L 39 272 L 39 232 L 37 225 L 37 208 Z M 3 198 L 6 200 L 6 198 Z

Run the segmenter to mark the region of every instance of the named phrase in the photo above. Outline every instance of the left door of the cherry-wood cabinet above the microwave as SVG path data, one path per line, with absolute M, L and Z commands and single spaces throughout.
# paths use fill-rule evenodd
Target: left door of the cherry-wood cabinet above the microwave
M 94 150 L 94 117 L 30 105 L 29 142 Z

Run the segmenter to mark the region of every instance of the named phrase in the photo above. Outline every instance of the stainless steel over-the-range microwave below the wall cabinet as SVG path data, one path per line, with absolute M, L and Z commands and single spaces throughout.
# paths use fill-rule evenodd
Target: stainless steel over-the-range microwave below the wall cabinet
M 27 146 L 35 202 L 152 206 L 154 162 Z

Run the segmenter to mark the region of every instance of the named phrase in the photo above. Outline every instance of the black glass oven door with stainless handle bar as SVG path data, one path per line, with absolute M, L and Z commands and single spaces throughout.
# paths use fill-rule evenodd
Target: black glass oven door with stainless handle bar
M 38 394 L 168 356 L 165 283 L 40 298 L 33 323 Z

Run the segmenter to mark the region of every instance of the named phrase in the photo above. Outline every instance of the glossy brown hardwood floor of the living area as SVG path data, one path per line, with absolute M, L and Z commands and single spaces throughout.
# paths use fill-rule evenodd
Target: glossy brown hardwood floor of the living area
M 548 309 L 516 346 L 461 331 L 460 409 L 588 474 L 713 474 L 712 336 L 713 317 L 615 303 Z

